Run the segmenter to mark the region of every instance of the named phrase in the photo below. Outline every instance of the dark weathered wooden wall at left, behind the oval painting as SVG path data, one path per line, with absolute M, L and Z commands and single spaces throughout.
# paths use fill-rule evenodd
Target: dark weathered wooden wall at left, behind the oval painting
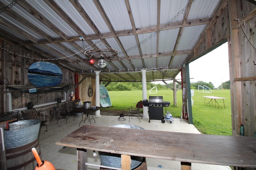
M 28 80 L 27 73 L 32 63 L 40 61 L 37 60 L 39 57 L 4 41 L 0 41 L 0 45 L 3 48 L 0 50 L 0 76 L 8 79 L 8 87 L 18 89 L 0 89 L 0 113 L 27 109 L 28 102 L 32 102 L 39 113 L 40 111 L 47 111 L 50 121 L 56 121 L 58 119 L 56 111 L 57 98 L 62 100 L 66 98 L 68 101 L 68 95 L 74 86 L 74 73 L 64 69 L 61 64 L 55 63 L 62 70 L 62 82 L 58 86 L 69 85 L 69 88 L 64 91 L 42 94 L 26 93 L 24 91 L 28 90 L 28 88 L 35 88 Z

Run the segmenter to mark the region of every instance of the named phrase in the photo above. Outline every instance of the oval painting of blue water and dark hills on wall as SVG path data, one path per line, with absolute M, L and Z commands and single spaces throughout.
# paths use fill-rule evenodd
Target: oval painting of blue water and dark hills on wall
M 56 64 L 38 61 L 28 68 L 28 79 L 36 87 L 56 86 L 62 80 L 62 71 Z

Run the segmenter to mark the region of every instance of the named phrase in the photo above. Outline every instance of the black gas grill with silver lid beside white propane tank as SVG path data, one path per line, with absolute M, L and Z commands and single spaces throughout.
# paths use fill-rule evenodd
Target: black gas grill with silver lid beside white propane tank
M 164 120 L 164 107 L 170 106 L 170 102 L 164 101 L 163 96 L 149 96 L 149 100 L 143 100 L 143 106 L 147 106 L 149 110 L 149 121 L 152 120 Z

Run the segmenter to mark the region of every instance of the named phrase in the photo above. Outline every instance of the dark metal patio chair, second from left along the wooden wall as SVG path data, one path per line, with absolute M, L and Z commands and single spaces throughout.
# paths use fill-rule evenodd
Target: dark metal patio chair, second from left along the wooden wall
M 22 117 L 23 117 L 24 120 L 38 119 L 37 116 L 42 117 L 42 119 L 40 119 L 41 120 L 40 125 L 41 126 L 46 126 L 46 132 L 48 132 L 48 130 L 47 130 L 47 123 L 48 123 L 47 117 L 48 116 L 47 115 L 39 115 L 35 108 L 29 109 L 29 110 L 26 110 L 26 111 L 21 111 L 21 113 L 22 113 Z

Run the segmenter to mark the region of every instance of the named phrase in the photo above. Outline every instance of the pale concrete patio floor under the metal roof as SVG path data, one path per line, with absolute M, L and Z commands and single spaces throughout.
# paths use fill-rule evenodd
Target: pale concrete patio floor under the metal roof
M 150 120 L 141 119 L 141 122 L 137 117 L 132 117 L 129 122 L 129 116 L 125 116 L 125 121 L 118 121 L 119 116 L 111 115 L 101 115 L 100 117 L 94 117 L 91 120 L 92 125 L 100 126 L 110 126 L 117 124 L 131 124 L 140 126 L 147 130 L 155 131 L 172 131 L 181 133 L 200 133 L 194 125 L 188 124 L 186 120 L 174 118 L 174 123 L 161 123 L 161 120 Z M 46 128 L 40 128 L 39 132 L 39 143 L 41 150 L 42 160 L 50 161 L 55 168 L 65 169 L 65 170 L 76 170 L 77 169 L 77 159 L 76 159 L 76 149 L 71 147 L 58 146 L 55 143 L 59 141 L 62 137 L 68 135 L 72 131 L 79 128 L 79 123 L 82 116 L 77 116 L 77 119 L 73 121 L 73 118 L 68 119 L 68 124 L 64 119 L 60 119 L 58 123 L 53 122 L 48 124 L 48 132 Z M 82 125 L 90 125 L 90 122 L 86 120 L 82 122 Z M 100 165 L 100 158 L 97 154 L 96 157 L 93 156 L 92 150 L 87 150 L 88 163 Z M 97 153 L 97 152 L 96 152 Z M 155 158 L 146 158 L 146 164 L 148 170 L 180 170 L 180 162 L 171 160 L 161 160 Z M 88 166 L 89 170 L 98 170 L 99 167 Z M 210 164 L 198 164 L 192 163 L 192 170 L 231 170 L 229 166 L 219 166 Z

